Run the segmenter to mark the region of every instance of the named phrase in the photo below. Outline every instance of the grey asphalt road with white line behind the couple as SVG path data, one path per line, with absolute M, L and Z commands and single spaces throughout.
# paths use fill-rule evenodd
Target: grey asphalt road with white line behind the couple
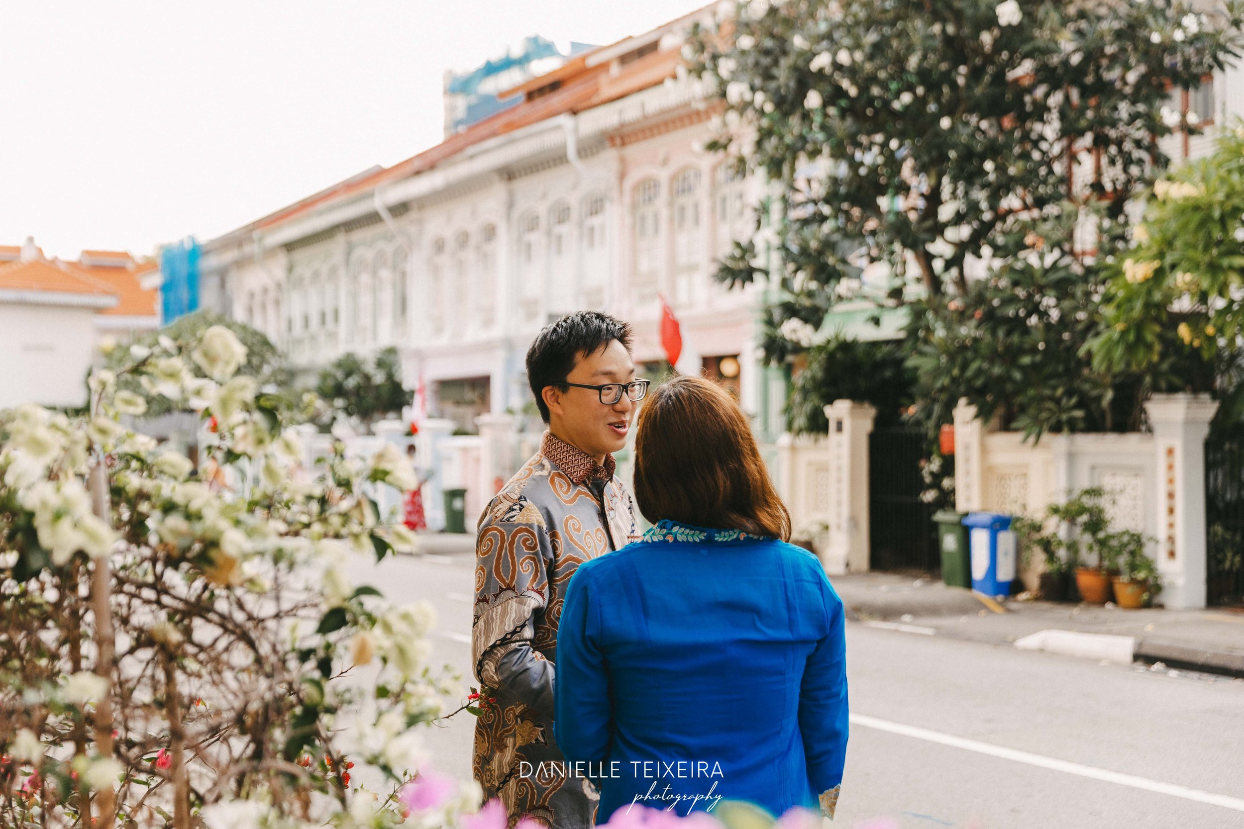
M 430 602 L 433 664 L 465 686 L 474 558 L 452 539 L 429 548 L 439 552 L 360 559 L 353 575 L 393 600 Z M 847 624 L 847 670 L 852 732 L 833 825 L 1244 828 L 1244 680 L 868 621 Z M 429 730 L 440 771 L 470 774 L 471 727 L 459 713 Z

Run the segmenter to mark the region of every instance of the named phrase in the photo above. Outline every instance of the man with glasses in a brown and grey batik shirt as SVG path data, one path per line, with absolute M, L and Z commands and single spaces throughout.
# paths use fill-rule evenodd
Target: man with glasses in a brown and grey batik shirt
M 526 363 L 549 430 L 480 517 L 471 656 L 486 705 L 473 767 L 485 799 L 499 797 L 511 825 L 530 817 L 587 829 L 595 789 L 565 766 L 554 741 L 557 621 L 578 566 L 639 537 L 612 452 L 626 445 L 648 382 L 634 377 L 631 327 L 595 311 L 547 326 Z

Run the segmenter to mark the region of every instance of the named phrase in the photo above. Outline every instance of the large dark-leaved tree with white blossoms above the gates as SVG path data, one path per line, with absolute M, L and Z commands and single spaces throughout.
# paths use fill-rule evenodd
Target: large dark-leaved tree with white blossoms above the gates
M 1101 324 L 1096 268 L 1166 165 L 1158 138 L 1195 131 L 1169 89 L 1234 57 L 1239 22 L 1234 1 L 1213 20 L 1169 1 L 740 4 L 690 53 L 724 101 L 713 145 L 774 185 L 776 256 L 763 267 L 749 240 L 718 278 L 770 278 L 775 362 L 845 298 L 909 306 L 931 433 L 960 396 L 1031 436 L 1135 428 L 1154 383 L 1082 352 Z

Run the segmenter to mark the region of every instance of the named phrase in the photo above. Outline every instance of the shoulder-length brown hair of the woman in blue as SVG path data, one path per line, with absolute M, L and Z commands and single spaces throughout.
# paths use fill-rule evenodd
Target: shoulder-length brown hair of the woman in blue
M 723 388 L 675 377 L 639 409 L 634 497 L 643 517 L 790 539 L 751 425 Z

